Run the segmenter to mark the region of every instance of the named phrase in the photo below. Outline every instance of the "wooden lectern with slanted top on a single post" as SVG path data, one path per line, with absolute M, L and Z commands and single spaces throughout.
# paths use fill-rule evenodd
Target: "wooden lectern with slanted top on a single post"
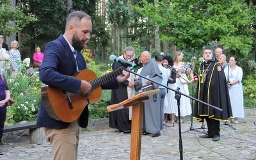
M 124 100 L 118 104 L 107 107 L 108 112 L 132 106 L 132 131 L 131 131 L 131 154 L 130 159 L 140 160 L 141 150 L 141 125 L 143 114 L 143 101 L 149 99 L 150 95 L 160 92 L 159 89 L 142 92 L 131 99 Z

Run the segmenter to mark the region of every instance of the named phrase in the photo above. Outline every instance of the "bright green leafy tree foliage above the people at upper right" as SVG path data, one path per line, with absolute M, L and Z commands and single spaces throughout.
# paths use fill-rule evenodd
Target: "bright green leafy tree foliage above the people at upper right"
M 239 0 L 170 0 L 159 6 L 143 0 L 136 7 L 160 28 L 161 40 L 179 47 L 202 49 L 207 42 L 220 42 L 226 49 L 248 54 L 252 49 L 255 13 Z

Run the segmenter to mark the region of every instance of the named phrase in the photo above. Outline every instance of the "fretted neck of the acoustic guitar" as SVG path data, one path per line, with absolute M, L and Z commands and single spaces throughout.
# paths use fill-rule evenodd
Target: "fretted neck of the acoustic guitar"
M 120 67 L 117 70 L 114 70 L 113 72 L 109 72 L 108 74 L 105 74 L 102 77 L 94 79 L 93 81 L 90 82 L 90 84 L 92 85 L 92 90 L 94 90 L 95 88 L 98 88 L 104 83 L 107 83 L 111 79 L 114 79 L 115 77 L 119 76 L 120 74 L 123 73 L 123 70 L 124 70 L 124 67 Z

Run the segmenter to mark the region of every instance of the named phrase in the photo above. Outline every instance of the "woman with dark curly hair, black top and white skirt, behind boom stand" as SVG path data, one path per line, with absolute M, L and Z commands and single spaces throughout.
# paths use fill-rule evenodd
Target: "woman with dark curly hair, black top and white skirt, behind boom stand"
M 173 60 L 171 56 L 164 56 L 163 57 L 163 66 L 168 68 L 168 83 L 167 86 L 172 88 L 173 90 L 177 90 L 176 84 L 176 70 L 173 67 Z M 167 127 L 174 127 L 174 114 L 178 112 L 177 100 L 174 98 L 175 92 L 172 90 L 167 90 L 166 96 L 164 98 L 164 122 L 163 124 Z M 167 122 L 167 115 L 170 114 L 170 124 L 166 124 Z

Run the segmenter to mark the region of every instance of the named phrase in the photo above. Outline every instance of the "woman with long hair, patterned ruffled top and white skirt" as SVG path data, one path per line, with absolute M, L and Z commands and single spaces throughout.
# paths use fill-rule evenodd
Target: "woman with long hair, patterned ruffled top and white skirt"
M 175 56 L 173 59 L 174 60 L 173 67 L 177 71 L 176 84 L 180 88 L 180 92 L 186 95 L 189 95 L 188 83 L 193 83 L 194 75 L 192 70 L 189 68 L 189 66 L 182 61 L 183 56 L 184 54 L 182 53 L 182 51 L 177 51 L 175 53 Z M 191 77 L 190 81 L 188 80 L 188 77 L 187 77 L 188 75 Z M 188 116 L 188 115 L 191 115 L 191 113 L 192 113 L 192 109 L 191 109 L 190 99 L 188 97 L 181 96 L 180 97 L 180 116 Z M 178 113 L 175 113 L 175 115 L 177 120 Z

